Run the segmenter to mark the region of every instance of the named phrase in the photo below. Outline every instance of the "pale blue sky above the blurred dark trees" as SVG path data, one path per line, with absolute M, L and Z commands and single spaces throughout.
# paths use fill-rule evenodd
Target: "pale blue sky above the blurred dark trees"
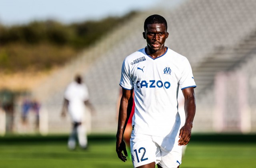
M 122 16 L 145 10 L 160 0 L 0 0 L 0 23 L 23 24 L 55 19 L 63 23 Z

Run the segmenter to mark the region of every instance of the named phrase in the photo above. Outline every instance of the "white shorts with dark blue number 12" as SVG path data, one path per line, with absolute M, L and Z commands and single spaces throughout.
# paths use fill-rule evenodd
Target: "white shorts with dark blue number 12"
M 130 139 L 134 168 L 155 162 L 162 168 L 177 168 L 181 164 L 182 146 L 178 138 L 156 137 L 132 133 Z

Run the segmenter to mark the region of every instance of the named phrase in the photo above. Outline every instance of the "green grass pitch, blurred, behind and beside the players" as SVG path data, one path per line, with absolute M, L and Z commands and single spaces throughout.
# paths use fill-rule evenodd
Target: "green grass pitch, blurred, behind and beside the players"
M 193 137 L 193 136 L 192 136 Z M 0 168 L 132 168 L 115 152 L 113 135 L 89 137 L 89 148 L 70 151 L 67 135 L 0 137 Z M 255 138 L 255 136 L 251 137 Z M 255 168 L 255 142 L 191 141 L 180 168 Z

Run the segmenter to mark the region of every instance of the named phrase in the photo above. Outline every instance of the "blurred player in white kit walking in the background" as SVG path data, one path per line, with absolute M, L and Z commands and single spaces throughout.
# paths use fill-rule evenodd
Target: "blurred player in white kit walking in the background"
M 89 101 L 89 93 L 87 86 L 83 83 L 82 77 L 76 75 L 75 80 L 71 82 L 64 93 L 64 104 L 61 116 L 65 117 L 66 113 L 70 114 L 72 120 L 72 131 L 68 139 L 68 148 L 74 150 L 76 148 L 76 139 L 81 148 L 87 148 L 87 135 L 84 125 L 85 105 L 90 108 L 91 112 L 95 112 L 94 107 Z

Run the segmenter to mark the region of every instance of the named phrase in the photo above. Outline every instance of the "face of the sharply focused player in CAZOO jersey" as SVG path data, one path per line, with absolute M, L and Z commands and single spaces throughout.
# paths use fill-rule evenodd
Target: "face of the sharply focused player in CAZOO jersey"
M 168 35 L 169 33 L 164 24 L 149 24 L 146 31 L 143 33 L 151 53 L 164 51 L 164 43 Z

